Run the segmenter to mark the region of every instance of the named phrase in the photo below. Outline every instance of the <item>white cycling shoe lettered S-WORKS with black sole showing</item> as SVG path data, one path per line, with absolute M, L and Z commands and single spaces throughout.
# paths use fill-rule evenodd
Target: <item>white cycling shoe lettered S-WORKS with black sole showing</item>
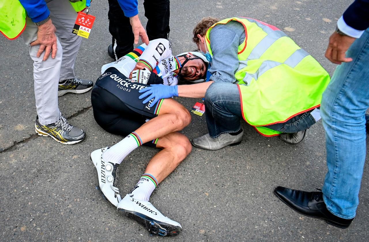
M 118 211 L 142 224 L 150 235 L 176 236 L 182 226 L 161 214 L 149 201 L 134 199 L 129 194 L 118 204 Z

